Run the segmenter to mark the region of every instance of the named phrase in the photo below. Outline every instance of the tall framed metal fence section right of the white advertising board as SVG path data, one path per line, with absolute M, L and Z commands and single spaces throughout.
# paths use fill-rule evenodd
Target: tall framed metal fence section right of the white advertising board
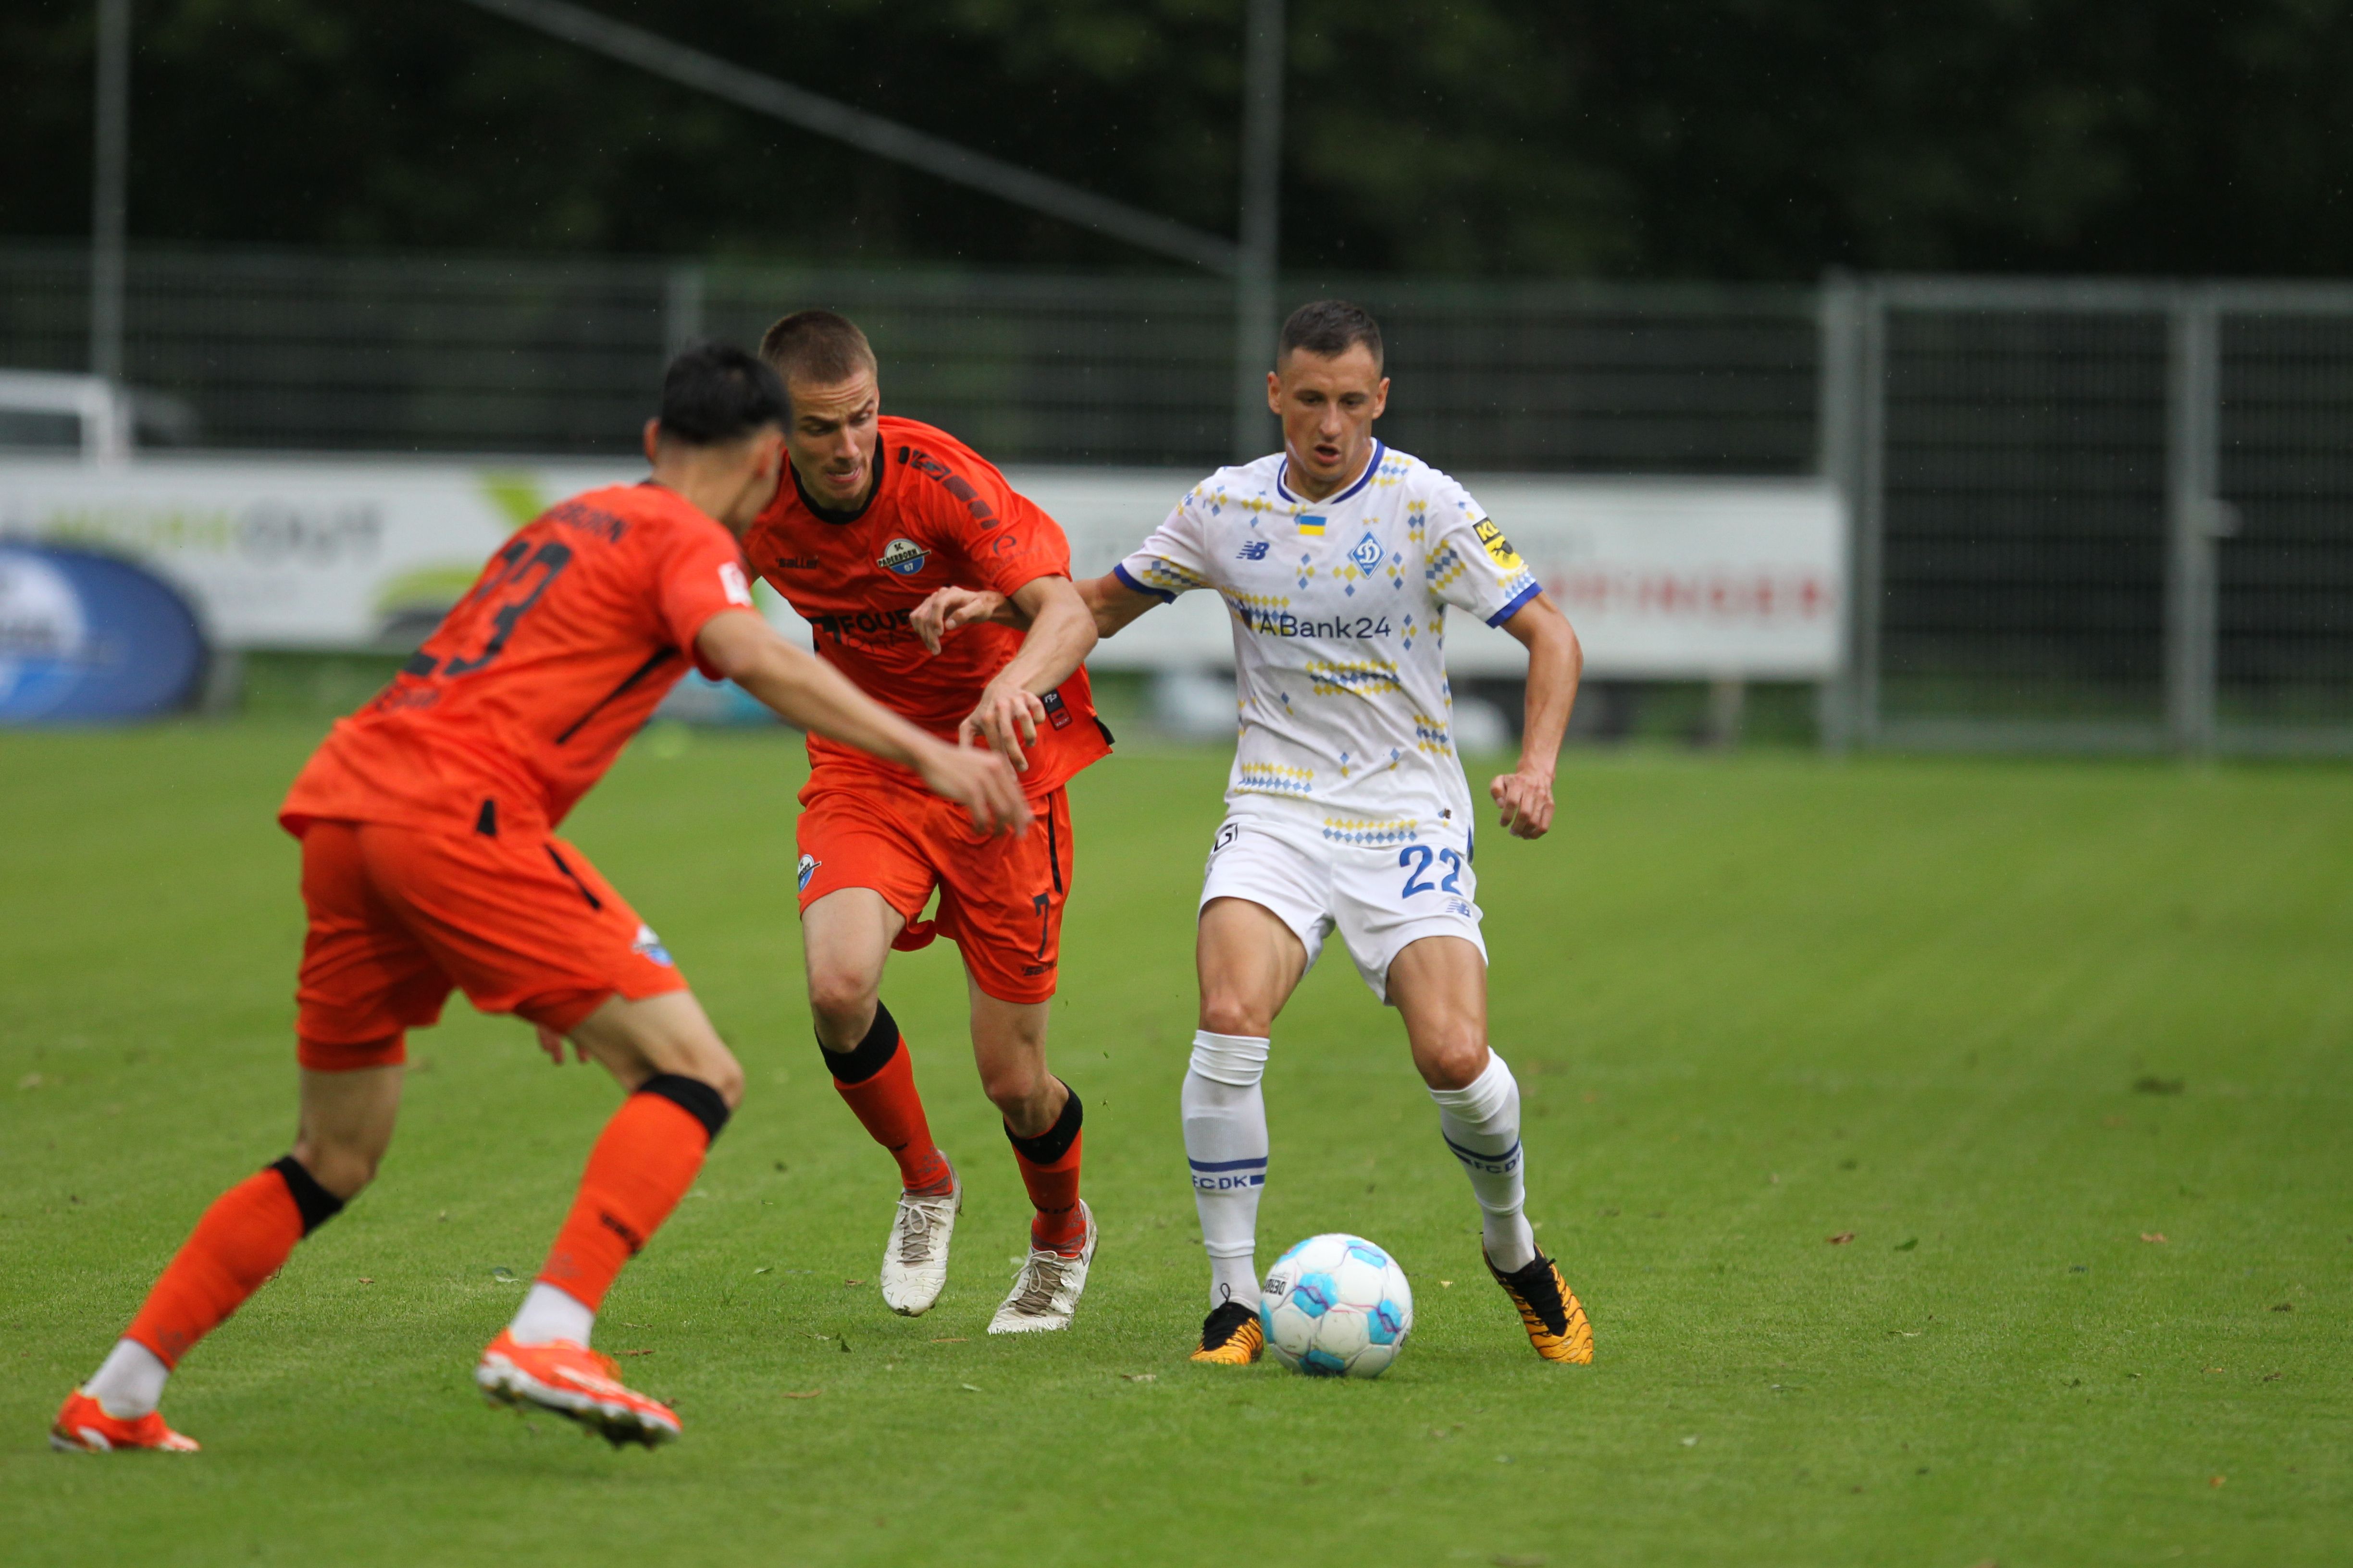
M 1826 296 L 1866 745 L 2353 750 L 2353 289 Z

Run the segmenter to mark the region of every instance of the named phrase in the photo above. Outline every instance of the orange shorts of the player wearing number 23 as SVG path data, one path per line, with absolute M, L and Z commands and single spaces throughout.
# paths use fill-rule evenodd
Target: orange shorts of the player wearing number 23
M 311 823 L 301 900 L 294 1032 L 320 1072 L 405 1060 L 402 1030 L 440 1020 L 452 987 L 558 1032 L 614 992 L 687 987 L 588 856 L 546 835 Z

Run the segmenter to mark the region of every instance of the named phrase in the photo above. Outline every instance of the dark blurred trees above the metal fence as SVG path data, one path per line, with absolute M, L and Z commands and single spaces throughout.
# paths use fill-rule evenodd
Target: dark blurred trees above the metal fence
M 1233 230 L 1242 0 L 591 0 Z M 2339 0 L 1292 0 L 1285 266 L 2353 273 Z M 92 0 L 0 7 L 0 235 L 89 223 Z M 459 0 L 136 0 L 132 237 L 1167 263 Z

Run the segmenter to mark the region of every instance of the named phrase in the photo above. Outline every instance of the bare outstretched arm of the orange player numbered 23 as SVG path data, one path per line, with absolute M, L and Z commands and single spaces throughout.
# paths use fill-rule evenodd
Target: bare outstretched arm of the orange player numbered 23
M 786 724 L 915 769 L 934 795 L 972 811 L 976 830 L 1028 830 L 1031 806 L 1002 757 L 922 733 L 849 684 L 847 675 L 779 637 L 753 611 L 711 616 L 694 649 L 704 665 L 774 708 Z

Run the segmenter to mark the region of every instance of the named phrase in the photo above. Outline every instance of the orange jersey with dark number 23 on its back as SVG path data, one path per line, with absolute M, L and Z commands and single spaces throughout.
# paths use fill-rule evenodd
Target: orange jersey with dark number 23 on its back
M 699 663 L 704 623 L 748 607 L 734 534 L 678 494 L 574 496 L 489 557 L 393 684 L 334 726 L 278 820 L 553 832 Z

